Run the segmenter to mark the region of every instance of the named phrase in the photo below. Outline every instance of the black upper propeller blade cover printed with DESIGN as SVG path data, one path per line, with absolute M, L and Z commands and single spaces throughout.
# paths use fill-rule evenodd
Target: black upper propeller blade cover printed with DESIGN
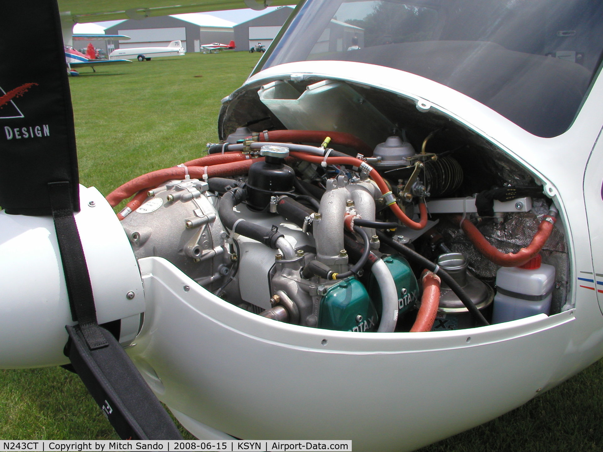
M 73 111 L 57 4 L 5 2 L 0 30 L 10 36 L 0 42 L 0 206 L 11 214 L 51 215 L 48 183 L 68 181 L 78 211 Z

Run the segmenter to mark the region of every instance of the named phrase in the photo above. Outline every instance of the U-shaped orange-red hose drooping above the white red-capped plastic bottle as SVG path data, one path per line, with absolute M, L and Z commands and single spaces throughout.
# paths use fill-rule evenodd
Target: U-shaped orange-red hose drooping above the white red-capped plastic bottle
M 549 215 L 546 215 L 545 219 L 538 225 L 538 230 L 528 246 L 517 251 L 517 253 L 504 254 L 502 251 L 499 251 L 494 248 L 494 246 L 490 245 L 488 240 L 486 240 L 484 236 L 482 236 L 482 233 L 479 232 L 478 228 L 476 228 L 468 219 L 462 219 L 460 215 L 453 216 L 453 222 L 461 225 L 463 231 L 465 231 L 465 234 L 469 240 L 471 240 L 475 248 L 477 248 L 488 260 L 491 260 L 491 262 L 502 267 L 517 267 L 523 265 L 532 259 L 532 257 L 535 257 L 540 253 L 546 240 L 551 236 L 555 221 L 557 221 L 557 219 L 555 218 L 554 213 L 549 212 Z

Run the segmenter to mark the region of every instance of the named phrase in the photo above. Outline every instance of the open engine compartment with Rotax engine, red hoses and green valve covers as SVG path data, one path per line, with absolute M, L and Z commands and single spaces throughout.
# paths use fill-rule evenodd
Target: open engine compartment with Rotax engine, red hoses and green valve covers
M 137 259 L 304 327 L 439 331 L 569 309 L 564 226 L 484 137 L 382 90 L 275 81 L 227 98 L 208 155 L 107 196 Z

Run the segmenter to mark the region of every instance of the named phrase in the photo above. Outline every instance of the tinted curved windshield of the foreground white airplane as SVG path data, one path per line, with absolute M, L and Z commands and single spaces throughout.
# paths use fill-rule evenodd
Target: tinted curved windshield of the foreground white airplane
M 601 0 L 308 0 L 258 69 L 306 60 L 393 67 L 553 137 L 572 124 L 602 49 Z

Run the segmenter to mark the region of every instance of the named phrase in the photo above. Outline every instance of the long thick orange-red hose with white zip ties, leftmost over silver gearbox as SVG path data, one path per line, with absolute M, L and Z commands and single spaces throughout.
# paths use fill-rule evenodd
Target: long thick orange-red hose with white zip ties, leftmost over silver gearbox
M 171 180 L 183 180 L 186 174 L 193 179 L 203 179 L 205 177 L 224 177 L 247 173 L 251 164 L 264 159 L 241 160 L 240 162 L 221 163 L 212 166 L 173 166 L 172 168 L 159 169 L 139 176 L 130 182 L 126 182 L 121 187 L 113 190 L 107 195 L 107 201 L 111 207 L 117 206 L 124 199 L 130 198 L 134 193 L 139 192 L 145 187 L 157 187 L 159 184 Z

